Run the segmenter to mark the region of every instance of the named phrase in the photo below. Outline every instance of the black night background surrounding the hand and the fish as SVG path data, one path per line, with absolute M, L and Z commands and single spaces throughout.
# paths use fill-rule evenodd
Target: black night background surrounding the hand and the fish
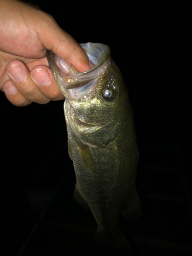
M 140 152 L 143 216 L 134 223 L 120 218 L 120 225 L 135 256 L 191 255 L 190 6 L 177 0 L 26 2 L 51 14 L 77 42 L 109 45 L 122 72 Z M 6 254 L 93 255 L 94 218 L 73 201 L 63 101 L 17 107 L 0 92 L 0 106 Z

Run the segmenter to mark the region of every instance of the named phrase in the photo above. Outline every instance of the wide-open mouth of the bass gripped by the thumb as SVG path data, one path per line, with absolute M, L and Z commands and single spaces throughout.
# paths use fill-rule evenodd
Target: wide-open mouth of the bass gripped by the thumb
M 97 43 L 92 44 L 91 42 L 88 44 L 80 44 L 80 46 L 88 55 L 89 60 L 95 65 L 95 67 L 83 73 L 75 72 L 74 74 L 74 72 L 72 72 L 74 67 L 72 67 L 73 65 L 70 65 L 69 70 L 71 70 L 71 74 L 65 74 L 65 72 L 62 72 L 61 70 L 62 65 L 55 65 L 55 63 L 58 63 L 60 58 L 52 51 L 47 50 L 46 52 L 49 66 L 52 69 L 55 80 L 57 81 L 60 90 L 66 97 L 68 96 L 66 89 L 74 89 L 85 86 L 95 78 L 98 78 L 104 74 L 111 63 L 111 50 L 109 46 Z M 60 61 L 62 60 L 60 59 Z

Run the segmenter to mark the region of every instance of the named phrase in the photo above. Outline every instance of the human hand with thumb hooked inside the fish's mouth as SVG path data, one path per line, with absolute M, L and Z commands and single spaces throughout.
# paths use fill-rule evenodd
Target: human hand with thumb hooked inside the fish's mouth
M 0 0 L 0 35 L 0 90 L 16 106 L 65 98 L 49 68 L 46 49 L 79 72 L 90 69 L 75 39 L 51 15 L 23 2 Z

